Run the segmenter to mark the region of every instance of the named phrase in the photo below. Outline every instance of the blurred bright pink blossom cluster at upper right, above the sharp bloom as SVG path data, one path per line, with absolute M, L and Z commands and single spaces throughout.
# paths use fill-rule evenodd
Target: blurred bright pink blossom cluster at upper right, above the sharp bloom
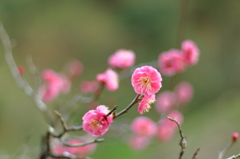
M 181 50 L 171 49 L 159 55 L 159 70 L 165 76 L 173 76 L 183 72 L 188 66 L 196 65 L 199 54 L 197 45 L 192 40 L 185 40 Z

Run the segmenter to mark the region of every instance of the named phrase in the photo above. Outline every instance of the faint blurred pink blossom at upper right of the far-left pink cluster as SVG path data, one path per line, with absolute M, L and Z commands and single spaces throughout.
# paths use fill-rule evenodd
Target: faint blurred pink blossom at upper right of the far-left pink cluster
M 68 73 L 71 78 L 79 76 L 80 74 L 82 74 L 82 72 L 83 72 L 83 65 L 80 61 L 73 60 L 70 62 L 68 66 Z

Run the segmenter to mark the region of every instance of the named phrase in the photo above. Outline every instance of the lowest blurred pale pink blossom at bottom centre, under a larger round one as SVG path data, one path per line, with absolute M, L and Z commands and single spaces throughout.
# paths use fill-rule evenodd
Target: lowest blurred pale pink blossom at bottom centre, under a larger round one
M 142 150 L 149 144 L 149 138 L 142 136 L 131 136 L 129 138 L 129 145 L 134 150 Z

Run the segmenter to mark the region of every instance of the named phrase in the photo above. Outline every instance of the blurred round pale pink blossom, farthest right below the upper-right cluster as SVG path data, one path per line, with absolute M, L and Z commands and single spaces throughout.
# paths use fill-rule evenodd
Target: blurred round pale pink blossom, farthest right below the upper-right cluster
M 174 90 L 179 104 L 186 104 L 192 99 L 193 87 L 190 83 L 181 82 Z

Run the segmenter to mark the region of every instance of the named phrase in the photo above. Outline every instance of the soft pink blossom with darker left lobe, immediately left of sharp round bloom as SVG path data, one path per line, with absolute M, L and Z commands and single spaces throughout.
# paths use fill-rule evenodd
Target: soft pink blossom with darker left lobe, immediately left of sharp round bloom
M 118 74 L 112 69 L 107 69 L 104 73 L 97 75 L 97 80 L 100 83 L 105 83 L 109 91 L 118 89 Z

